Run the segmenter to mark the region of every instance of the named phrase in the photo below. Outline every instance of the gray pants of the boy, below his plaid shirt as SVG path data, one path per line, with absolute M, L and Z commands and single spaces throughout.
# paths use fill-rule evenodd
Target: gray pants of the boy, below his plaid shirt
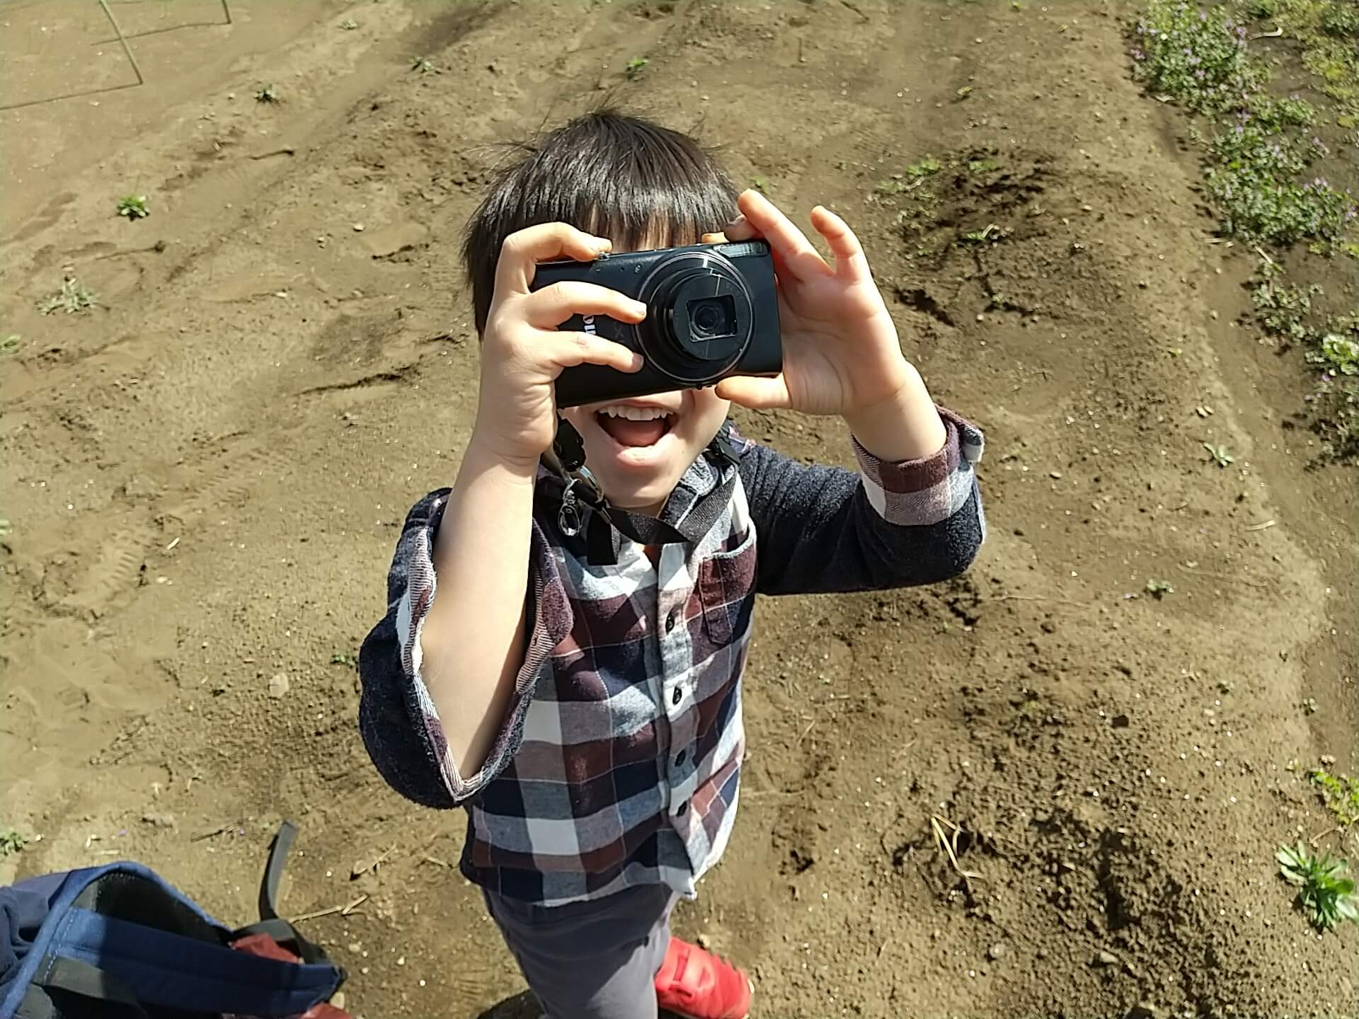
M 593 902 L 534 906 L 482 890 L 549 1019 L 652 1019 L 675 898 L 662 884 Z

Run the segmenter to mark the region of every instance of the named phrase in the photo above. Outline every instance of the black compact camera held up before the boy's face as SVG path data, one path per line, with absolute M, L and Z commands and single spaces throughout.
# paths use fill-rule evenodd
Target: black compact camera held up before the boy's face
M 595 333 L 637 351 L 635 374 L 582 364 L 557 378 L 557 406 L 606 404 L 675 389 L 713 386 L 728 375 L 783 371 L 773 260 L 765 240 L 693 245 L 545 262 L 534 289 L 584 280 L 647 306 L 637 325 L 573 315 L 560 329 Z

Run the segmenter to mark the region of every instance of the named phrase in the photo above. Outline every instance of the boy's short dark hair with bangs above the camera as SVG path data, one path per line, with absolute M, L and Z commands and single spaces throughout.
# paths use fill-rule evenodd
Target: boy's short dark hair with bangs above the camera
M 500 246 L 538 223 L 569 223 L 620 249 L 696 245 L 737 212 L 737 190 L 688 135 L 599 110 L 519 145 L 467 224 L 462 258 L 477 333 L 487 327 Z

